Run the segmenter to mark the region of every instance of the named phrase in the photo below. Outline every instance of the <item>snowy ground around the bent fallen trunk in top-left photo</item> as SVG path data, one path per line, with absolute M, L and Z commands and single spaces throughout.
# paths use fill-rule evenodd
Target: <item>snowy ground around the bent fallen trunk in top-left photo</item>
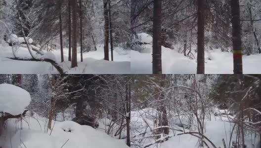
M 78 48 L 78 67 L 71 68 L 68 61 L 68 49 L 64 48 L 64 62 L 61 63 L 60 50 L 46 52 L 44 56 L 36 54 L 37 58 L 49 58 L 56 61 L 67 74 L 130 74 L 131 51 L 121 47 L 114 48 L 114 61 L 105 61 L 103 45 L 97 45 L 97 51 L 85 52 L 83 62 L 80 58 L 80 48 Z M 16 57 L 31 59 L 27 48 L 19 47 L 15 52 Z M 109 51 L 111 58 L 111 51 Z M 58 74 L 58 71 L 48 62 L 17 61 L 13 58 L 12 47 L 7 44 L 0 44 L 0 74 Z

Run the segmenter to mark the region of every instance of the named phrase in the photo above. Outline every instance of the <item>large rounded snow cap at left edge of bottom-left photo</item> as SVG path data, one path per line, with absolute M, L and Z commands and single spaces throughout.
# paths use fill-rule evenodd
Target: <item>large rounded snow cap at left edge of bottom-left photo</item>
M 0 112 L 21 114 L 30 101 L 30 94 L 26 90 L 11 84 L 0 84 Z

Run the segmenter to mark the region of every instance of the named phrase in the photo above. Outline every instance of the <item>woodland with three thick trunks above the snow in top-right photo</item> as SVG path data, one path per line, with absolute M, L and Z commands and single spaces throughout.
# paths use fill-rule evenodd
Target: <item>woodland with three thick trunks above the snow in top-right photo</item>
M 260 0 L 131 0 L 132 50 L 148 44 L 137 34 L 153 36 L 153 74 L 162 73 L 161 45 L 197 59 L 197 74 L 208 50 L 233 51 L 234 73 L 242 74 L 242 54 L 261 53 L 260 7 Z

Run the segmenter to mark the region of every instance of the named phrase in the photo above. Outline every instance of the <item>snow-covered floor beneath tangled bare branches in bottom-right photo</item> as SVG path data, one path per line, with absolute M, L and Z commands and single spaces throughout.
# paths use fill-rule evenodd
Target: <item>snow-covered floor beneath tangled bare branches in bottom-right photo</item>
M 216 109 L 205 119 L 204 135 L 210 141 L 212 141 L 217 148 L 224 148 L 222 139 L 224 139 L 226 146 L 229 145 L 230 135 L 234 126 L 234 123 L 229 122 L 231 121 L 233 116 L 224 114 L 221 115 L 220 113 L 224 113 L 223 111 L 224 110 L 219 111 L 218 109 Z M 218 114 L 217 116 L 214 115 L 215 112 Z M 141 145 L 142 148 L 145 148 L 150 144 L 152 145 L 147 148 L 199 148 L 199 138 L 190 134 L 178 135 L 186 132 L 198 132 L 196 118 L 193 119 L 193 126 L 191 127 L 191 130 L 189 130 L 189 127 L 185 126 L 183 129 L 178 125 L 188 125 L 189 119 L 186 115 L 180 114 L 174 114 L 172 117 L 170 117 L 170 127 L 173 129 L 171 129 L 169 133 L 171 138 L 163 143 L 155 144 L 155 139 L 153 139 L 154 134 L 151 131 L 156 129 L 156 126 L 154 124 L 156 115 L 157 110 L 153 108 L 131 111 L 131 137 L 134 137 L 132 142 L 135 143 L 133 143 L 133 145 L 137 145 L 134 148 L 139 148 L 138 146 Z M 158 128 L 159 127 L 160 126 L 158 126 Z M 177 130 L 181 130 L 182 132 Z M 232 146 L 232 141 L 236 141 L 235 131 L 232 134 L 230 146 Z M 138 142 L 141 143 L 139 144 Z M 207 140 L 206 142 L 211 148 L 213 148 Z M 254 133 L 246 133 L 245 145 L 247 146 L 247 148 L 260 148 L 261 144 L 259 135 L 255 135 Z

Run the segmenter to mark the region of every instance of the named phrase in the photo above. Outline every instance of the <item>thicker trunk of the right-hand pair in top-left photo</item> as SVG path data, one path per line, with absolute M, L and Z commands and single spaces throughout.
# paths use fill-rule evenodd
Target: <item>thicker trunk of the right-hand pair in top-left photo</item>
M 108 0 L 103 0 L 104 15 L 104 60 L 109 61 L 109 17 L 108 17 Z

